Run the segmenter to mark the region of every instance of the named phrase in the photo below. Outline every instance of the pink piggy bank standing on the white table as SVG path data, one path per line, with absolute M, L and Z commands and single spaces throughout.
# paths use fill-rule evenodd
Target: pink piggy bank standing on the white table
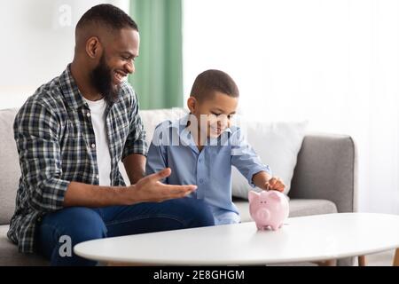
M 249 212 L 258 230 L 278 230 L 286 221 L 289 205 L 286 196 L 275 190 L 248 193 Z

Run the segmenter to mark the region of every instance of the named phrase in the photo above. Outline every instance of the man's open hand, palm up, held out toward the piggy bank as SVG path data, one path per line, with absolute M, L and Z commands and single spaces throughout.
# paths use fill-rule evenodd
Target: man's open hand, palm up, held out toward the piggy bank
M 141 178 L 136 185 L 130 185 L 131 203 L 160 202 L 182 198 L 197 189 L 197 185 L 165 185 L 160 179 L 171 174 L 170 169 L 161 170 L 153 175 Z

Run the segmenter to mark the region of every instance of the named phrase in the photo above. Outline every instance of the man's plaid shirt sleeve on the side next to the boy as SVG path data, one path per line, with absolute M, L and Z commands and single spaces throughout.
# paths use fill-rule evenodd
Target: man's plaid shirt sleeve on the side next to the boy
M 145 141 L 145 128 L 138 112 L 139 105 L 137 95 L 136 92 L 133 91 L 133 93 L 134 96 L 131 105 L 131 109 L 133 111 L 130 118 L 129 135 L 126 139 L 126 143 L 121 156 L 122 161 L 130 154 L 142 154 L 146 156 L 148 151 L 148 146 Z

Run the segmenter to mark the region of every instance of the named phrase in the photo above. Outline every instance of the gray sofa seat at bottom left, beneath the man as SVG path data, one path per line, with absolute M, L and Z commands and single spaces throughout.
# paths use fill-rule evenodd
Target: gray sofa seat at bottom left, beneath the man
M 49 262 L 42 256 L 25 255 L 7 239 L 8 225 L 0 225 L 0 266 L 43 266 Z

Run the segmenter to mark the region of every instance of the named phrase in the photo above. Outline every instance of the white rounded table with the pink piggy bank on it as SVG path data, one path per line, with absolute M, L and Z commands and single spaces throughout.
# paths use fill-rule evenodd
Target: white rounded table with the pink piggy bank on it
M 339 213 L 288 218 L 275 232 L 242 223 L 86 241 L 74 253 L 107 263 L 251 265 L 323 261 L 393 248 L 399 248 L 399 216 Z

